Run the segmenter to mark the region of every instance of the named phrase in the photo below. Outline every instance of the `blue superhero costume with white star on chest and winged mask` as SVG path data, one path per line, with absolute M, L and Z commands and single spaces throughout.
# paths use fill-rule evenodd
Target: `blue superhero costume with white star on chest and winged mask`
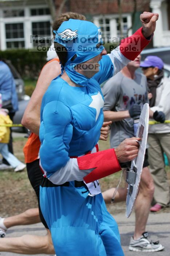
M 107 212 L 95 181 L 121 168 L 114 149 L 97 152 L 96 144 L 103 124 L 104 98 L 99 84 L 120 71 L 129 59 L 119 49 L 113 51 L 103 56 L 99 72 L 88 79 L 74 67 L 104 49 L 98 27 L 70 19 L 59 27 L 55 41 L 68 52 L 62 71 L 65 69 L 80 86 L 72 87 L 59 76 L 51 82 L 42 100 L 41 210 L 56 255 L 123 256 L 117 224 Z M 91 187 L 92 191 L 96 189 L 94 196 Z

